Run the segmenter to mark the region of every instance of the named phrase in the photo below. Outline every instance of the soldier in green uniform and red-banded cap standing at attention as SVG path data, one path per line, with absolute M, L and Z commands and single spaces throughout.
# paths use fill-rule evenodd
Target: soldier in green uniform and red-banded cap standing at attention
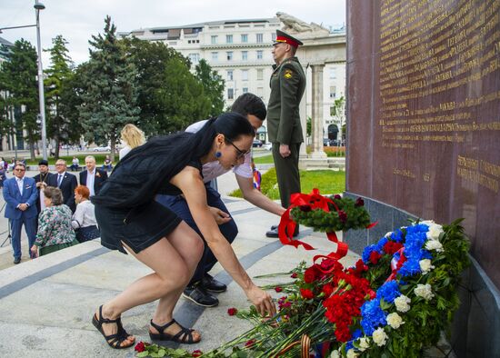
M 305 73 L 295 57 L 295 52 L 302 42 L 276 30 L 273 45 L 275 65 L 271 75 L 271 95 L 267 105 L 267 130 L 269 141 L 273 143 L 276 177 L 279 186 L 281 204 L 290 205 L 290 195 L 300 193 L 298 155 L 300 144 L 304 142 L 300 124 L 299 104 L 305 90 Z M 294 236 L 298 234 L 295 230 Z M 277 227 L 265 234 L 278 237 Z

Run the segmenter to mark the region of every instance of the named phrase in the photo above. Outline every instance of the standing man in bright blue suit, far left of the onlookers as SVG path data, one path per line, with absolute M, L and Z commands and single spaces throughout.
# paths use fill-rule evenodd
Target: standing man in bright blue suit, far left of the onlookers
M 14 264 L 21 262 L 21 228 L 25 225 L 28 246 L 35 243 L 36 235 L 36 190 L 35 179 L 25 177 L 25 164 L 14 166 L 14 177 L 5 181 L 5 217 L 9 219 L 12 230 L 12 249 Z M 31 253 L 30 253 L 31 257 Z

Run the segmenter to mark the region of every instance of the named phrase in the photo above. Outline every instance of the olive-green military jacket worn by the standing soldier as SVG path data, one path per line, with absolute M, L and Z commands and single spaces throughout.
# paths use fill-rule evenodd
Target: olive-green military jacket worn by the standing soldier
M 296 57 L 275 66 L 269 85 L 267 105 L 269 141 L 279 144 L 304 142 L 300 124 L 299 104 L 305 90 L 305 73 Z

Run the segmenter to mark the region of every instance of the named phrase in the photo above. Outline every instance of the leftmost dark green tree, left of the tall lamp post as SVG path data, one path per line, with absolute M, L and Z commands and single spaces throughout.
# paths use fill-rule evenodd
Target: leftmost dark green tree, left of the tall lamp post
M 39 113 L 38 85 L 36 83 L 36 51 L 35 47 L 24 39 L 12 46 L 10 61 L 2 65 L 3 88 L 9 92 L 10 105 L 15 106 L 19 121 L 10 130 L 25 130 L 25 140 L 30 146 L 30 156 L 35 160 L 35 144 L 40 138 L 40 128 L 36 123 Z

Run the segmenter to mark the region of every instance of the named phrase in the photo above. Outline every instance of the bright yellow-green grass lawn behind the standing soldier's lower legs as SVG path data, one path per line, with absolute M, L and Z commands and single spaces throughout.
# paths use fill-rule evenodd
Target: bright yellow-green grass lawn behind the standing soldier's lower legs
M 300 171 L 301 192 L 309 194 L 318 188 L 321 194 L 337 194 L 345 191 L 345 172 L 333 170 Z M 279 190 L 276 184 L 275 168 L 269 169 L 262 175 L 261 191 L 270 199 L 279 199 Z M 243 197 L 239 189 L 229 194 Z

